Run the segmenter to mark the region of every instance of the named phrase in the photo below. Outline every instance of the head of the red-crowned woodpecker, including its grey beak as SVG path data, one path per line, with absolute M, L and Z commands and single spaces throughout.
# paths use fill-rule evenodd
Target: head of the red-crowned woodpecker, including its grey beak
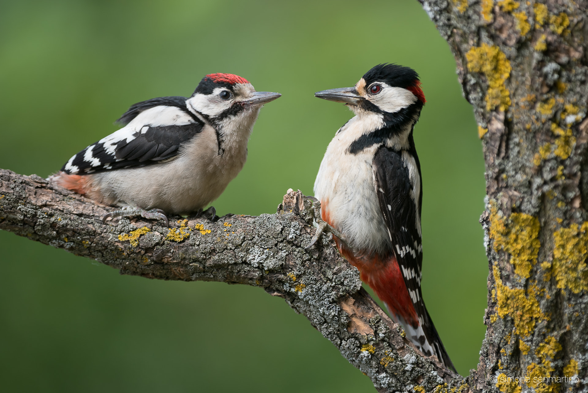
M 209 74 L 202 78 L 186 101 L 188 109 L 217 129 L 253 126 L 259 109 L 281 94 L 255 91 L 245 78 L 233 74 Z

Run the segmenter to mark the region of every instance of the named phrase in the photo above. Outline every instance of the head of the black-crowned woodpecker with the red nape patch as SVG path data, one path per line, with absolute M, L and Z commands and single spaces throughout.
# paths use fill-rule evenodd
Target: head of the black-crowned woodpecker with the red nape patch
M 411 105 L 422 107 L 425 94 L 420 89 L 419 74 L 409 67 L 379 64 L 350 88 L 329 89 L 315 93 L 318 98 L 343 102 L 358 115 L 394 114 Z

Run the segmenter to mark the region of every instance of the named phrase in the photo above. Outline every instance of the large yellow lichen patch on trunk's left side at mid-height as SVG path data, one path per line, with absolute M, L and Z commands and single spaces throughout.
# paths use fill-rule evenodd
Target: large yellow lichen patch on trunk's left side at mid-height
M 537 262 L 539 242 L 539 219 L 524 213 L 513 213 L 508 219 L 500 217 L 494 205 L 490 207 L 490 238 L 495 251 L 500 249 L 511 255 L 510 263 L 515 273 L 529 278 Z

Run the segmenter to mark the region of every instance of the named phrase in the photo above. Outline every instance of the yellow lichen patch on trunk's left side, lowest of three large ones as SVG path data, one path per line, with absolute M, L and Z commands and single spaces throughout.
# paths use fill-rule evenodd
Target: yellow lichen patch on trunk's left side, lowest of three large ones
M 530 284 L 527 295 L 524 289 L 510 289 L 502 284 L 500 271 L 496 265 L 493 267 L 493 275 L 496 281 L 496 301 L 499 317 L 512 317 L 516 333 L 523 338 L 529 337 L 534 331 L 537 320 L 548 319 L 541 311 L 539 301 L 537 301 L 537 295 L 540 292 L 539 287 L 536 284 Z

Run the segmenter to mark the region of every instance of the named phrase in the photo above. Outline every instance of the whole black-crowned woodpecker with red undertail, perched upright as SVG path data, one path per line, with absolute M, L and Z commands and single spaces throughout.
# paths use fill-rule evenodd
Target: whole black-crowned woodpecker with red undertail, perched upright
M 422 181 L 413 128 L 426 101 L 419 75 L 380 64 L 352 88 L 315 96 L 355 112 L 336 132 L 316 176 L 322 220 L 410 341 L 455 371 L 420 290 Z

